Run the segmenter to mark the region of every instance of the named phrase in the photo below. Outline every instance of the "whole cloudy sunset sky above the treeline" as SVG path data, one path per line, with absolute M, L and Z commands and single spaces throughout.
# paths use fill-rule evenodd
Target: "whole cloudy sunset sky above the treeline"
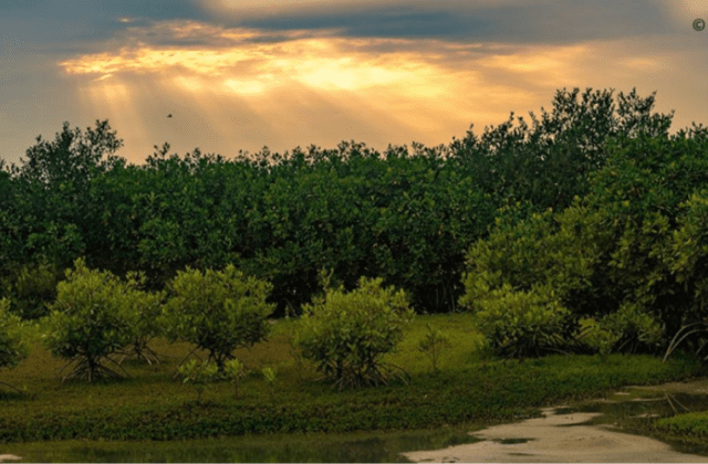
M 165 143 L 436 147 L 574 87 L 656 92 L 675 133 L 708 124 L 697 19 L 705 0 L 2 0 L 0 158 L 104 119 L 137 165 Z

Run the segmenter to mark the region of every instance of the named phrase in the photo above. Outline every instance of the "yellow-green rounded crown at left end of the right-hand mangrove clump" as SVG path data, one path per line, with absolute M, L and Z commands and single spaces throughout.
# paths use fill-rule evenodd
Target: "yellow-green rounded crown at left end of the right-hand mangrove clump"
M 606 230 L 597 228 L 601 219 L 585 208 L 571 207 L 561 213 L 532 213 L 521 221 L 497 220 L 490 235 L 470 246 L 460 306 L 473 309 L 490 291 L 504 285 L 514 291 L 549 285 L 563 305 L 586 305 L 577 298 L 592 291 L 598 247 L 607 240 Z

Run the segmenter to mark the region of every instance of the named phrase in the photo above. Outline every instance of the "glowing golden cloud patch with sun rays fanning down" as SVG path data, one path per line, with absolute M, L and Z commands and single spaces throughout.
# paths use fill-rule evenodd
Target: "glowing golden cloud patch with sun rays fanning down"
M 143 41 L 150 31 L 157 43 Z M 86 95 L 97 107 L 112 108 L 126 125 L 140 122 L 132 137 L 174 137 L 190 149 L 216 139 L 222 140 L 220 147 L 251 151 L 277 140 L 337 143 L 350 133 L 384 147 L 402 134 L 439 145 L 450 139 L 450 127 L 499 124 L 512 110 L 535 109 L 560 87 L 603 86 L 637 68 L 662 70 L 658 57 L 627 59 L 624 49 L 602 54 L 607 44 L 592 42 L 532 46 L 428 40 L 423 45 L 308 31 L 281 31 L 269 41 L 259 39 L 270 32 L 195 21 L 162 22 L 133 33 L 132 45 L 60 65 L 70 77 L 93 78 L 88 87 L 94 91 Z M 597 75 L 607 61 L 615 67 Z M 175 115 L 169 124 L 168 113 Z M 236 120 L 257 123 L 235 129 Z

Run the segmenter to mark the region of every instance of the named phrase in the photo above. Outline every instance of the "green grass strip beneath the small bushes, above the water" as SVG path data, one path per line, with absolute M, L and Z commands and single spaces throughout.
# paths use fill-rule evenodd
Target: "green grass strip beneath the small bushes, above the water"
M 42 329 L 28 327 L 34 349 L 0 380 L 23 393 L 0 390 L 0 442 L 45 440 L 183 440 L 253 433 L 351 432 L 410 430 L 491 423 L 529 416 L 537 408 L 604 396 L 626 384 L 658 383 L 701 373 L 700 367 L 676 357 L 667 363 L 648 356 L 551 356 L 527 361 L 487 359 L 481 336 L 467 314 L 417 316 L 396 354 L 385 361 L 405 368 L 406 384 L 339 392 L 317 381 L 317 372 L 296 356 L 292 334 L 296 320 L 279 320 L 268 342 L 238 350 L 250 375 L 238 398 L 228 382 L 197 391 L 174 379 L 177 363 L 192 349 L 157 339 L 165 362 L 148 366 L 126 360 L 123 380 L 86 383 L 56 377 L 65 365 L 40 339 Z M 447 334 L 451 348 L 430 361 L 417 344 L 430 324 Z M 272 389 L 262 368 L 277 370 Z M 1 388 L 1 387 L 0 387 Z

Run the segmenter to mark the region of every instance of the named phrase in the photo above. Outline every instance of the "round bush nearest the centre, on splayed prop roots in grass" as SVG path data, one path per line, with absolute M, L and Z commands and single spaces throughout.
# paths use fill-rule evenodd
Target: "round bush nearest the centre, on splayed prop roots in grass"
M 354 292 L 329 291 L 324 302 L 303 308 L 302 356 L 340 389 L 386 383 L 391 369 L 381 359 L 413 320 L 404 291 L 383 289 L 382 282 L 362 277 Z

